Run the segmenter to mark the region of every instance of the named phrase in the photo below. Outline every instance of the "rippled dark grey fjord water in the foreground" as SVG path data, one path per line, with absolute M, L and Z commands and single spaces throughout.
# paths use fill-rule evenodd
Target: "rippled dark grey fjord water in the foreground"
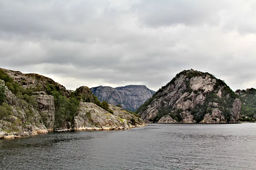
M 256 123 L 148 124 L 0 140 L 2 170 L 255 170 Z

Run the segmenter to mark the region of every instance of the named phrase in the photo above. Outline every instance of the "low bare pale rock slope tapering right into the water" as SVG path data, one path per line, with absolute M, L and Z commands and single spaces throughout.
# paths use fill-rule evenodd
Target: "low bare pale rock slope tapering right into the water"
M 109 105 L 113 114 L 99 106 L 80 102 L 78 116 L 75 117 L 76 130 L 116 130 L 145 126 L 142 119 L 134 116 L 122 108 Z

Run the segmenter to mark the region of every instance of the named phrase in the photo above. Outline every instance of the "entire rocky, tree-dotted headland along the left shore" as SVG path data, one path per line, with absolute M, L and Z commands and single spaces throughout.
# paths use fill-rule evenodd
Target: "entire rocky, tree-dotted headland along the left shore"
M 0 68 L 0 139 L 75 130 L 144 126 L 137 114 L 100 102 L 86 86 L 76 91 L 39 74 Z

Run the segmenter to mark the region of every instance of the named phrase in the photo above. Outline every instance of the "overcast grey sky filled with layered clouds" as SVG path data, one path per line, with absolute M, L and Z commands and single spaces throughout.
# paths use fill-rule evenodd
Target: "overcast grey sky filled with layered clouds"
M 2 0 L 0 68 L 67 89 L 146 85 L 187 69 L 256 88 L 255 0 Z

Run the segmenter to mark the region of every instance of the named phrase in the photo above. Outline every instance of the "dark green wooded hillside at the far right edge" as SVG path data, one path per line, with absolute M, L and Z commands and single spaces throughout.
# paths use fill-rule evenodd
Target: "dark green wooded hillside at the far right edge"
M 236 94 L 242 101 L 240 120 L 243 122 L 256 121 L 256 89 L 236 90 Z

